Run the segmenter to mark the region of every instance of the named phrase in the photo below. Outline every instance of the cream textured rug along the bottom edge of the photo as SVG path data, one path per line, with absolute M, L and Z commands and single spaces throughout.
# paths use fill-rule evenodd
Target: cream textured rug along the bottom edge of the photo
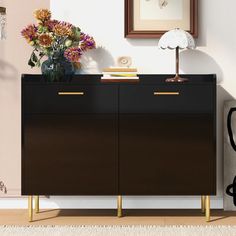
M 1 226 L 1 236 L 236 236 L 236 226 Z

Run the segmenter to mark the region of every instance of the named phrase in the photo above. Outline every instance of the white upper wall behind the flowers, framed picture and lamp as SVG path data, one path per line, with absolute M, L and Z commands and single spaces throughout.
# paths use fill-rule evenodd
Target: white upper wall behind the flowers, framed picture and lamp
M 236 72 L 234 55 L 236 33 L 232 30 L 235 22 L 234 0 L 199 0 L 198 50 L 183 52 L 181 70 L 184 73 L 217 72 L 219 79 L 230 92 L 230 77 Z M 51 0 L 53 16 L 72 22 L 94 36 L 98 49 L 88 53 L 84 59 L 86 72 L 100 72 L 104 66 L 114 64 L 116 57 L 130 55 L 140 73 L 174 72 L 174 51 L 158 50 L 156 39 L 124 38 L 123 0 Z M 229 78 L 229 79 L 227 79 Z M 229 82 L 230 80 L 230 82 Z

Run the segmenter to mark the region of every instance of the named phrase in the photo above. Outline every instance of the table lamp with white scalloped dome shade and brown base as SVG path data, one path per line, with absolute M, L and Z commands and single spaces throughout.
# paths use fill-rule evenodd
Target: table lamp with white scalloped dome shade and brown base
M 174 78 L 169 78 L 166 82 L 186 82 L 187 78 L 179 76 L 179 50 L 194 49 L 195 41 L 191 34 L 182 29 L 173 29 L 166 32 L 159 40 L 158 48 L 171 49 L 176 51 L 176 75 Z

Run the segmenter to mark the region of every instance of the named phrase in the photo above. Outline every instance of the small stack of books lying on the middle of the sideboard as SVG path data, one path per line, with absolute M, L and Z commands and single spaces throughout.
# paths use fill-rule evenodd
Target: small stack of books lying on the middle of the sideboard
M 106 81 L 137 81 L 137 68 L 109 67 L 103 69 L 102 80 Z

